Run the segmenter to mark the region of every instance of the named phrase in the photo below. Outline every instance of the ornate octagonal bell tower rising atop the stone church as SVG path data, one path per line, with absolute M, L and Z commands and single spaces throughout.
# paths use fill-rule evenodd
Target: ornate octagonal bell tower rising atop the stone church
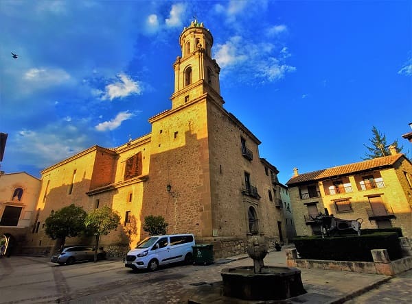
M 199 98 L 211 97 L 218 104 L 225 103 L 220 97 L 220 67 L 211 59 L 213 37 L 203 23 L 192 21 L 179 37 L 181 56 L 176 58 L 174 68 L 174 93 L 172 110 L 192 103 Z

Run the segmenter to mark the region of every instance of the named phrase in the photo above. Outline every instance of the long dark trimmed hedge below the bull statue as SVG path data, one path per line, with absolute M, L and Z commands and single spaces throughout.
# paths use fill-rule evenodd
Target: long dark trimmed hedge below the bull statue
M 371 249 L 387 249 L 391 260 L 402 256 L 398 234 L 394 232 L 334 238 L 310 236 L 293 242 L 302 259 L 373 262 Z

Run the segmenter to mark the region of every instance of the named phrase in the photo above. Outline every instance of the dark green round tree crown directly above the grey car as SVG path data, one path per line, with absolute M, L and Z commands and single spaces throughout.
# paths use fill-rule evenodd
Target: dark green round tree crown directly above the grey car
M 62 246 L 65 246 L 67 237 L 78 236 L 84 231 L 84 219 L 86 216 L 87 213 L 82 207 L 74 204 L 62 207 L 56 212 L 52 212 L 45 219 L 45 233 L 53 240 L 59 238 Z

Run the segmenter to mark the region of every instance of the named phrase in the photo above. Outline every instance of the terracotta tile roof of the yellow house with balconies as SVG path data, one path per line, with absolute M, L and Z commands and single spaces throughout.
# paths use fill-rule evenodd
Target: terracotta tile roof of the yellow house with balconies
M 353 164 L 346 164 L 343 166 L 336 166 L 323 170 L 317 170 L 309 173 L 302 173 L 288 180 L 286 185 L 289 187 L 297 183 L 304 183 L 306 181 L 319 181 L 321 179 L 328 179 L 331 177 L 353 174 L 364 170 L 371 170 L 385 166 L 392 166 L 400 157 L 404 157 L 402 153 L 396 155 L 389 155 L 384 157 L 374 158 L 372 160 L 365 160 L 363 162 L 355 162 Z

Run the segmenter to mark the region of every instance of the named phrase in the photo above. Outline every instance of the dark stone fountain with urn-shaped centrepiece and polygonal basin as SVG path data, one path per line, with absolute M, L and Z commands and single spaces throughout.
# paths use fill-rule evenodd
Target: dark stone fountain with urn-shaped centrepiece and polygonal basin
M 222 269 L 223 295 L 242 300 L 284 300 L 305 294 L 301 271 L 293 267 L 264 266 L 268 253 L 262 236 L 253 235 L 247 243 L 253 267 Z

